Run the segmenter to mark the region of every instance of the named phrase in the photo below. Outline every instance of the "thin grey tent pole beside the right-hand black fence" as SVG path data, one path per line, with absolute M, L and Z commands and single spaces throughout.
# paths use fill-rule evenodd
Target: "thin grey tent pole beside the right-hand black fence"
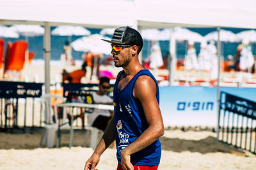
M 218 55 L 218 80 L 217 80 L 217 140 L 219 139 L 220 123 L 220 27 L 217 27 L 217 55 Z

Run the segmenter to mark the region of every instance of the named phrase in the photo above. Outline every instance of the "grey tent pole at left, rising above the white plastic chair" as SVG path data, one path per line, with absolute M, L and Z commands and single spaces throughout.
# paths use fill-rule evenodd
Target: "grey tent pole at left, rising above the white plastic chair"
M 47 94 L 50 93 L 51 27 L 47 22 L 44 27 L 44 85 L 45 94 Z

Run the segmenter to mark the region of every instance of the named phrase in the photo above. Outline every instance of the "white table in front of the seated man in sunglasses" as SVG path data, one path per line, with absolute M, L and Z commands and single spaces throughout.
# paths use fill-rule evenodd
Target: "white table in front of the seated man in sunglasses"
M 94 108 L 99 110 L 114 110 L 114 106 L 108 104 L 88 104 L 88 103 L 60 103 L 56 104 L 57 107 L 63 108 L 63 124 L 67 124 L 67 108 Z M 70 122 L 70 140 L 69 140 L 69 148 L 73 145 L 73 111 L 71 112 L 71 122 Z M 60 122 L 58 123 L 58 138 L 56 147 L 60 146 Z

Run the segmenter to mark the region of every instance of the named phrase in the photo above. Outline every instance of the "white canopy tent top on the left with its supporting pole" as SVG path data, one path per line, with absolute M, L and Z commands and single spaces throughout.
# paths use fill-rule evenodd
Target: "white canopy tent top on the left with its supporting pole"
M 50 27 L 57 25 L 81 25 L 104 28 L 130 25 L 137 27 L 135 8 L 124 13 L 122 8 L 113 6 L 134 6 L 133 1 L 51 1 L 51 0 L 3 0 L 0 6 L 0 24 L 43 25 L 45 58 L 45 92 L 50 89 L 51 34 Z M 15 11 L 15 12 L 14 12 Z

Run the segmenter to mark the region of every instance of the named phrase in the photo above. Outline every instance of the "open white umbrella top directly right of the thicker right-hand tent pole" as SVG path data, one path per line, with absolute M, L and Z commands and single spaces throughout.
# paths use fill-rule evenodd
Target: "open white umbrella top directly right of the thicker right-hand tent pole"
M 194 41 L 202 42 L 204 37 L 197 32 L 190 31 L 183 27 L 175 27 L 173 30 L 173 36 L 177 41 Z

